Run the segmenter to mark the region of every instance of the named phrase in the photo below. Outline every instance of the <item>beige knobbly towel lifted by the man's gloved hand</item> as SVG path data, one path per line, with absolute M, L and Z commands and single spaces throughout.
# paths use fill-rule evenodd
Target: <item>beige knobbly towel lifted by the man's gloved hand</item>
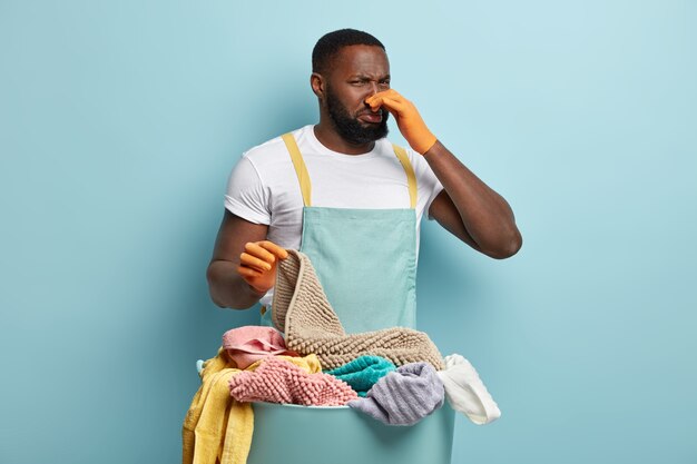
M 302 355 L 314 353 L 323 369 L 332 369 L 359 356 L 373 355 L 397 366 L 426 362 L 444 368 L 438 347 L 423 332 L 393 327 L 346 335 L 326 299 L 310 258 L 289 249 L 278 263 L 274 300 L 274 325 L 285 333 L 286 346 Z

